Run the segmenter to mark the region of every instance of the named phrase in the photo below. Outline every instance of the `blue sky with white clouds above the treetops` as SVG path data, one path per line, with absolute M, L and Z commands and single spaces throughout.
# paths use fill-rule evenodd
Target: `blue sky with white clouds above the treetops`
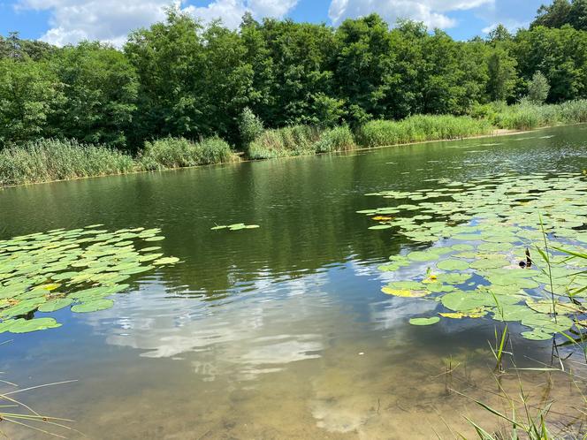
M 121 46 L 129 31 L 164 19 L 170 4 L 203 21 L 220 18 L 238 27 L 249 11 L 255 19 L 274 17 L 338 26 L 344 19 L 377 12 L 388 23 L 416 19 L 457 40 L 484 36 L 501 23 L 527 27 L 549 0 L 0 0 L 0 34 L 57 45 L 100 40 Z

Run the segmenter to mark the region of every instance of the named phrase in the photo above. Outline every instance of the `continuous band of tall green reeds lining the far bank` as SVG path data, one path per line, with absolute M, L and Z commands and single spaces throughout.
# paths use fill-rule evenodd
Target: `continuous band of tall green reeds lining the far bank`
M 498 108 L 498 111 L 492 111 Z M 464 140 L 525 133 L 555 125 L 587 122 L 587 101 L 561 104 L 490 104 L 484 115 L 415 115 L 400 121 L 263 129 L 254 115 L 244 118 L 240 151 L 218 137 L 163 138 L 145 142 L 135 154 L 77 140 L 41 139 L 0 150 L 0 186 L 49 183 L 142 171 L 172 170 L 277 157 L 309 156 L 423 142 Z

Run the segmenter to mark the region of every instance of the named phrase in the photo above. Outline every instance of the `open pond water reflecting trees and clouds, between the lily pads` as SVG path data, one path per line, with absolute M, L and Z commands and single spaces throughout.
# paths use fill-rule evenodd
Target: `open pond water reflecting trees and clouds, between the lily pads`
M 109 310 L 62 310 L 58 329 L 0 335 L 12 341 L 0 346 L 1 378 L 21 387 L 78 379 L 22 398 L 74 419 L 91 438 L 431 438 L 434 430 L 448 437 L 440 415 L 470 434 L 462 413 L 491 423 L 446 391 L 445 359 L 460 364 L 451 387 L 491 401 L 487 340 L 495 322 L 410 326 L 438 303 L 385 295 L 393 276 L 377 266 L 426 245 L 370 231 L 373 222 L 356 211 L 381 206 L 365 193 L 411 192 L 433 178 L 585 168 L 587 126 L 576 125 L 6 188 L 0 239 L 96 223 L 160 227 L 162 252 L 184 262 L 134 278 Z M 260 228 L 210 231 L 240 222 Z M 405 269 L 401 279 L 410 275 Z M 514 343 L 519 366 L 530 365 L 527 357 L 550 360 L 548 342 Z M 534 391 L 545 382 L 531 372 L 522 380 Z M 560 413 L 577 398 L 568 386 L 548 392 Z

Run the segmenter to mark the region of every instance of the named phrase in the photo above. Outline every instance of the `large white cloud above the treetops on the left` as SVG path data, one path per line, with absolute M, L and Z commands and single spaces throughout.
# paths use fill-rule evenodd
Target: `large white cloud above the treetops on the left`
M 186 6 L 184 11 L 203 21 L 222 19 L 237 27 L 247 11 L 255 18 L 283 17 L 298 0 L 213 0 L 208 6 Z M 178 6 L 184 2 L 175 2 Z M 50 29 L 42 40 L 57 45 L 100 40 L 120 46 L 126 35 L 165 17 L 170 0 L 19 0 L 17 9 L 50 11 Z

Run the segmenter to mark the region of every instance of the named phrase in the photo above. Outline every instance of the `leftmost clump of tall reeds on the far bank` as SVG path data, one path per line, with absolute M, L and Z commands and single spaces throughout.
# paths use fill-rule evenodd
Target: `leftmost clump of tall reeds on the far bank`
M 0 150 L 0 186 L 133 171 L 133 157 L 76 140 L 43 139 Z

